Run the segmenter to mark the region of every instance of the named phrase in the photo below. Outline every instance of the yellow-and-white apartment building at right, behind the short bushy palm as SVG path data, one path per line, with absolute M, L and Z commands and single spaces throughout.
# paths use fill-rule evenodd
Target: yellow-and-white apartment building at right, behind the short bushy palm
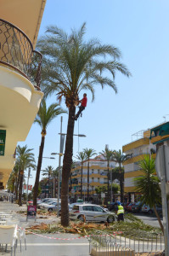
M 132 143 L 128 143 L 122 147 L 122 151 L 125 154 L 129 154 L 130 158 L 123 162 L 124 166 L 124 192 L 128 195 L 128 199 L 135 200 L 138 195 L 135 191 L 133 177 L 143 175 L 142 170 L 138 166 L 138 162 L 144 159 L 145 154 L 155 154 L 156 147 L 151 143 L 150 130 L 138 131 L 132 135 L 135 140 Z

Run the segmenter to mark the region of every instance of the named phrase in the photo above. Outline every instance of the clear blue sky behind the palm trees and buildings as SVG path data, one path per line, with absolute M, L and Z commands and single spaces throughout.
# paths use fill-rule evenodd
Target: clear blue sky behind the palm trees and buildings
M 127 65 L 132 78 L 117 74 L 118 93 L 96 87 L 95 101 L 87 92 L 87 108 L 76 122 L 74 155 L 83 148 L 93 148 L 97 153 L 121 149 L 132 141 L 132 134 L 169 120 L 168 68 L 169 68 L 169 2 L 166 0 L 47 0 L 39 36 L 50 25 L 65 32 L 78 29 L 87 23 L 86 39 L 99 38 L 103 44 L 121 49 L 121 61 Z M 82 98 L 82 95 L 80 95 Z M 56 96 L 48 99 L 55 102 Z M 62 107 L 65 108 L 64 103 Z M 66 132 L 67 115 L 63 115 L 63 132 Z M 48 126 L 44 156 L 59 152 L 60 117 Z M 41 129 L 32 125 L 25 142 L 34 148 L 36 160 L 41 143 Z M 58 166 L 55 160 L 43 159 L 42 169 Z M 33 177 L 35 177 L 35 172 Z M 34 184 L 34 178 L 30 181 Z

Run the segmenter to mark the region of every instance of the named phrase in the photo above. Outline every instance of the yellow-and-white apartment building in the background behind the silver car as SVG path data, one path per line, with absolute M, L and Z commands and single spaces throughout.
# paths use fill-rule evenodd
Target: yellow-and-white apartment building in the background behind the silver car
M 74 168 L 71 169 L 70 195 L 73 197 L 76 196 L 76 199 L 81 197 L 82 177 L 82 197 L 84 200 L 87 200 L 87 165 L 87 160 L 83 161 L 83 163 L 76 162 Z M 112 170 L 113 168 L 115 168 L 115 162 L 110 161 L 109 170 Z M 104 184 L 107 185 L 107 170 L 108 167 L 106 160 L 89 160 L 89 195 L 91 198 L 96 196 L 96 187 L 102 186 Z M 115 180 L 115 183 L 118 183 L 118 181 Z

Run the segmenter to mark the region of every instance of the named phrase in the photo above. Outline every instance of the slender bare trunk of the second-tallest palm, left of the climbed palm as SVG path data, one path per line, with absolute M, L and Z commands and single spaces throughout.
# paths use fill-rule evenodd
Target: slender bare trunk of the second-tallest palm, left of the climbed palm
M 42 135 L 41 146 L 39 148 L 37 174 L 36 174 L 36 180 L 35 180 L 34 192 L 33 192 L 33 205 L 34 206 L 37 206 L 37 194 L 38 194 L 38 187 L 39 187 L 39 177 L 40 177 L 41 166 L 42 166 L 42 153 L 43 153 L 44 143 L 45 143 L 45 137 L 44 137 L 44 135 Z

